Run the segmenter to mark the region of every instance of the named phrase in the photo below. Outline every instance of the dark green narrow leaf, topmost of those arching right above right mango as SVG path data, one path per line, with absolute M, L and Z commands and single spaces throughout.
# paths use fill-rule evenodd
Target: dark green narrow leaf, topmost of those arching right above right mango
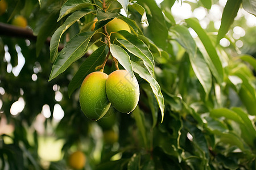
M 153 54 L 151 53 L 151 51 L 148 48 L 148 46 L 146 44 L 144 44 L 144 42 L 142 40 L 139 40 L 137 36 L 131 35 L 131 33 L 129 33 L 128 31 L 118 31 L 118 33 L 121 33 L 121 35 L 123 37 L 125 37 L 125 39 L 127 41 L 131 42 L 131 44 L 134 44 L 136 46 L 136 48 L 141 50 L 141 52 L 145 56 L 147 56 L 147 58 L 150 59 L 151 63 L 153 65 L 155 65 Z

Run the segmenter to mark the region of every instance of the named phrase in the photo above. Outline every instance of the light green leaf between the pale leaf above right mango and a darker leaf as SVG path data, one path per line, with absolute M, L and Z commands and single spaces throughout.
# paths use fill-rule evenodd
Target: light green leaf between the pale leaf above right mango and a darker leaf
M 141 58 L 144 63 L 144 66 L 147 67 L 148 72 L 151 75 L 154 75 L 153 63 L 150 61 L 150 59 L 144 53 L 142 53 L 142 51 L 140 49 L 137 48 L 137 46 L 135 46 L 134 44 L 131 44 L 131 42 L 129 42 L 127 40 L 117 39 L 117 41 L 120 44 L 122 44 L 123 47 L 125 47 L 131 54 L 134 54 L 134 56 Z

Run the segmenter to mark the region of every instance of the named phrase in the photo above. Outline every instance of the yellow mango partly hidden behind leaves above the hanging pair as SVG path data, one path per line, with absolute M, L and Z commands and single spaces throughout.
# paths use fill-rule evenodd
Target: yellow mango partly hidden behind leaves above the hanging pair
M 110 35 L 112 42 L 115 38 L 123 39 L 122 35 L 120 35 L 119 33 L 115 33 L 115 32 L 118 32 L 121 30 L 126 30 L 131 33 L 131 29 L 130 29 L 129 25 L 126 22 L 124 22 L 122 19 L 118 19 L 118 18 L 114 18 L 108 24 L 106 24 L 106 29 L 107 29 L 107 32 L 109 33 L 109 35 L 110 35 L 110 33 L 113 32 Z

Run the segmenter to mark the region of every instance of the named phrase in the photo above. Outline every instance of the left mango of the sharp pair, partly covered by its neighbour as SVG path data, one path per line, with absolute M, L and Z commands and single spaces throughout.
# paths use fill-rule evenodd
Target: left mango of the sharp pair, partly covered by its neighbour
M 108 74 L 100 71 L 90 73 L 82 82 L 80 88 L 80 107 L 85 116 L 91 120 L 99 120 L 110 107 L 106 96 L 106 79 Z

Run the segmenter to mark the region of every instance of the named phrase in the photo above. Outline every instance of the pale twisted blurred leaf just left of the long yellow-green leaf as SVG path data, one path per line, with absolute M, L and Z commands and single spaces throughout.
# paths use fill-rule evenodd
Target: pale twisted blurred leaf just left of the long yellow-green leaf
M 197 52 L 196 42 L 193 40 L 188 29 L 183 26 L 176 25 L 172 28 L 172 32 L 175 35 L 174 38 L 180 45 L 187 49 L 193 71 L 203 86 L 205 94 L 208 96 L 210 88 L 212 87 L 212 75 L 203 55 Z

